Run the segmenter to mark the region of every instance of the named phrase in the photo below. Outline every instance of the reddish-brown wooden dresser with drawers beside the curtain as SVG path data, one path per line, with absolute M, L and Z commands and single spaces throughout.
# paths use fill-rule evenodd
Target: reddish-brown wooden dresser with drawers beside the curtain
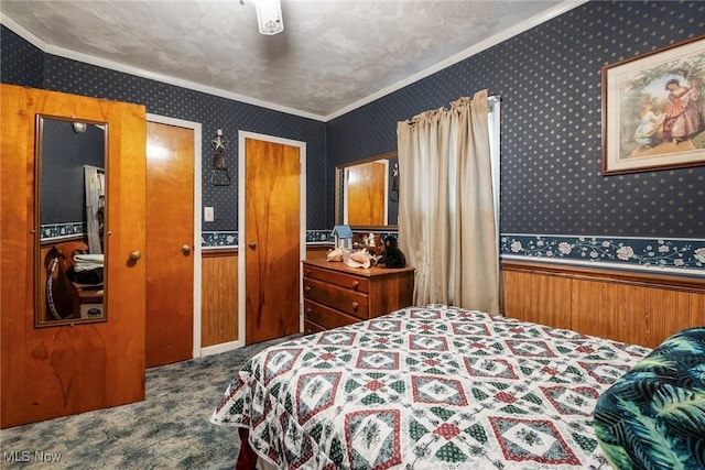
M 304 331 L 324 331 L 408 307 L 414 269 L 347 267 L 341 262 L 303 262 Z

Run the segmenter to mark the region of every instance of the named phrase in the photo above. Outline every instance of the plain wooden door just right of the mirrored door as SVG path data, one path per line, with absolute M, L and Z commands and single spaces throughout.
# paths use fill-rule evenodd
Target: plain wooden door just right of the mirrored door
M 193 358 L 194 131 L 147 123 L 147 367 Z

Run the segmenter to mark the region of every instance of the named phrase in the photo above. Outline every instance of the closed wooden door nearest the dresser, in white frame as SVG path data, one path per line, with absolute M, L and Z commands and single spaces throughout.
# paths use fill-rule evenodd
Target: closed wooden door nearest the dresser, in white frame
M 246 343 L 300 330 L 300 149 L 246 139 Z

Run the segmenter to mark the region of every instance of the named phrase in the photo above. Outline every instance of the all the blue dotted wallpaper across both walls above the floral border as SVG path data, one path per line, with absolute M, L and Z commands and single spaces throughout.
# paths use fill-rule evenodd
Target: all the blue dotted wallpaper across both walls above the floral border
M 487 88 L 502 98 L 502 233 L 704 238 L 705 166 L 600 175 L 601 67 L 703 32 L 705 2 L 593 1 L 327 123 L 42 54 L 4 26 L 1 79 L 202 122 L 204 231 L 237 230 L 237 185 L 207 182 L 216 129 L 235 181 L 238 130 L 305 141 L 307 229 L 327 230 L 335 165 L 395 151 L 397 121 Z

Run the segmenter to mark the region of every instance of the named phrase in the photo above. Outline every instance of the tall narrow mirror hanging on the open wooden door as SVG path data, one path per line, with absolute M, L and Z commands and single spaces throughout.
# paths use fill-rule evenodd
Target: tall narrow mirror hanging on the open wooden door
M 35 325 L 105 321 L 106 123 L 37 116 Z

